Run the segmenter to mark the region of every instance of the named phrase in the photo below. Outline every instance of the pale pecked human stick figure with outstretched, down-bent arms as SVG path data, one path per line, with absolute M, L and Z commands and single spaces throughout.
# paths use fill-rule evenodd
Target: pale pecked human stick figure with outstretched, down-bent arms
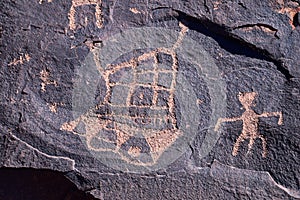
M 240 117 L 233 117 L 233 118 L 220 118 L 215 126 L 215 131 L 220 128 L 221 123 L 223 122 L 235 122 L 235 121 L 242 121 L 243 122 L 243 130 L 241 135 L 238 137 L 236 143 L 233 146 L 232 155 L 236 156 L 238 153 L 239 146 L 241 142 L 245 139 L 249 139 L 248 144 L 248 151 L 247 154 L 252 149 L 254 144 L 254 140 L 256 138 L 261 139 L 262 146 L 263 146 L 263 153 L 262 156 L 265 158 L 267 156 L 267 142 L 266 139 L 258 133 L 258 121 L 260 117 L 272 117 L 272 116 L 279 116 L 278 125 L 283 124 L 283 117 L 282 112 L 267 112 L 262 114 L 255 113 L 252 110 L 251 106 L 253 106 L 253 100 L 257 96 L 255 92 L 248 92 L 248 93 L 239 93 L 238 98 L 241 102 L 245 112 Z

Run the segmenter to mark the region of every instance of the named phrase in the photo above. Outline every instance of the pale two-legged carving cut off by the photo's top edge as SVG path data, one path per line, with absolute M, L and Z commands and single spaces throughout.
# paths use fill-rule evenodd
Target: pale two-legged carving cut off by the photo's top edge
M 101 4 L 102 0 L 72 0 L 72 6 L 69 12 L 69 26 L 71 30 L 76 29 L 76 7 L 84 6 L 84 5 L 95 5 L 95 17 L 96 17 L 96 25 L 98 28 L 102 28 L 103 26 L 103 19 L 102 19 L 102 11 L 101 11 Z

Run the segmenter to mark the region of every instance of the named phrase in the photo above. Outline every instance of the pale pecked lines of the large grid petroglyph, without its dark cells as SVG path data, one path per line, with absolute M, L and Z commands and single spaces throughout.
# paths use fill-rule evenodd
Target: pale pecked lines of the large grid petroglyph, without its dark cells
M 169 106 L 169 113 L 170 113 L 170 115 L 164 116 L 163 119 L 162 119 L 162 117 L 157 117 L 157 118 L 154 118 L 154 119 L 165 120 L 166 122 L 169 122 L 168 119 L 171 119 L 173 125 L 175 124 L 174 122 L 176 122 L 176 118 L 175 118 L 175 110 L 174 110 L 174 93 L 175 93 L 175 87 L 176 87 L 175 84 L 176 84 L 176 75 L 177 75 L 177 68 L 178 68 L 178 62 L 177 62 L 177 56 L 176 56 L 175 49 L 179 47 L 179 45 L 181 44 L 181 42 L 183 40 L 184 34 L 187 31 L 187 28 L 185 26 L 180 25 L 180 27 L 182 28 L 182 30 L 181 30 L 181 32 L 180 32 L 180 34 L 178 36 L 177 42 L 173 45 L 172 48 L 170 48 L 170 49 L 164 49 L 164 48 L 156 49 L 156 50 L 151 51 L 149 53 L 145 53 L 145 54 L 143 54 L 143 55 L 141 55 L 141 56 L 139 56 L 137 58 L 133 58 L 129 62 L 124 62 L 124 63 L 118 64 L 118 65 L 109 65 L 109 66 L 106 67 L 105 70 L 102 70 L 102 68 L 99 69 L 100 73 L 103 75 L 103 77 L 104 77 L 104 79 L 106 81 L 106 86 L 108 88 L 107 89 L 107 93 L 106 93 L 106 97 L 105 97 L 105 100 L 104 100 L 105 104 L 108 104 L 110 106 L 114 106 L 113 104 L 110 104 L 109 101 L 108 101 L 110 99 L 110 97 L 111 97 L 111 86 L 112 86 L 112 84 L 109 81 L 109 76 L 111 74 L 113 74 L 116 71 L 118 71 L 120 69 L 123 69 L 125 67 L 131 67 L 134 70 L 134 72 L 133 72 L 134 76 L 136 76 L 138 74 L 138 72 L 136 71 L 136 67 L 137 67 L 138 62 L 141 62 L 141 61 L 149 59 L 149 58 L 153 58 L 154 59 L 154 64 L 158 65 L 157 53 L 158 52 L 166 53 L 166 54 L 171 55 L 171 57 L 173 59 L 172 70 L 159 70 L 158 67 L 156 66 L 156 69 L 154 69 L 154 72 L 156 72 L 157 75 L 158 75 L 158 73 L 161 72 L 161 71 L 163 71 L 163 72 L 170 72 L 170 71 L 172 71 L 171 88 L 168 89 L 170 91 L 170 93 L 171 93 L 171 96 L 170 96 L 170 98 L 168 100 L 168 106 Z M 101 67 L 101 66 L 99 65 L 98 67 Z M 155 66 L 154 66 L 154 68 L 155 68 Z M 143 72 L 145 72 L 145 70 Z M 151 71 L 151 73 L 152 72 L 153 71 Z M 158 90 L 161 90 L 161 89 L 165 90 L 165 88 L 159 87 L 157 84 L 158 84 L 158 76 L 157 76 L 157 79 L 154 80 L 152 88 L 155 91 L 158 91 Z M 133 84 L 131 85 L 131 87 L 136 86 L 136 85 L 137 85 L 137 81 L 136 81 L 136 77 L 134 77 Z M 132 91 L 130 91 L 130 94 L 128 96 L 132 96 L 132 94 L 133 94 Z M 154 102 L 155 101 L 157 101 L 157 100 L 154 99 Z M 128 101 L 128 98 L 127 98 L 126 107 L 128 107 L 129 105 L 130 105 L 130 101 Z M 99 107 L 100 106 L 101 105 L 99 105 Z M 150 108 L 153 109 L 153 108 L 156 108 L 156 107 L 155 106 L 152 106 L 152 107 L 150 106 Z M 166 107 L 157 107 L 157 109 L 159 109 L 159 110 L 161 110 L 162 108 L 166 108 Z M 88 119 L 88 118 L 93 117 L 93 116 L 94 116 L 94 119 L 90 119 L 90 120 Z M 123 118 L 128 118 L 127 116 L 117 115 L 115 113 L 113 113 L 111 115 L 111 117 L 118 117 L 118 116 L 119 117 L 123 117 Z M 110 116 L 109 115 L 105 115 L 104 117 L 110 117 Z M 66 128 L 73 130 L 75 128 L 74 124 L 77 124 L 77 123 L 79 123 L 80 120 L 82 120 L 89 127 L 87 129 L 87 134 L 84 136 L 84 137 L 86 137 L 86 141 L 87 141 L 87 145 L 88 145 L 89 149 L 94 150 L 94 151 L 111 151 L 111 152 L 115 152 L 115 153 L 119 154 L 120 157 L 124 161 L 126 161 L 128 163 L 132 163 L 134 165 L 140 165 L 140 166 L 153 165 L 154 163 L 157 162 L 157 159 L 160 157 L 160 155 L 163 153 L 163 151 L 166 148 L 168 148 L 168 146 L 172 145 L 174 143 L 174 141 L 176 141 L 176 138 L 181 134 L 180 132 L 178 132 L 176 126 L 173 126 L 172 130 L 164 130 L 164 131 L 161 131 L 159 133 L 157 132 L 157 130 L 152 130 L 152 129 L 146 130 L 147 134 L 149 132 L 152 132 L 151 138 L 148 137 L 146 140 L 147 140 L 148 144 L 150 143 L 151 145 L 150 144 L 149 145 L 152 146 L 151 147 L 151 149 L 152 149 L 151 156 L 153 158 L 153 162 L 148 162 L 148 163 L 142 163 L 141 161 L 132 162 L 130 159 L 126 158 L 124 155 L 122 155 L 122 153 L 119 152 L 119 148 L 120 148 L 120 146 L 124 142 L 126 142 L 129 139 L 130 136 L 132 136 L 132 134 L 130 134 L 132 132 L 132 130 L 133 129 L 139 130 L 139 128 L 128 126 L 127 124 L 122 124 L 122 123 L 119 123 L 119 122 L 115 122 L 113 119 L 112 120 L 110 120 L 110 119 L 103 119 L 103 120 L 101 120 L 99 118 L 101 118 L 101 115 L 97 115 L 97 114 L 93 115 L 92 113 L 88 112 L 87 114 L 81 116 L 79 119 L 73 121 L 72 122 L 73 123 L 73 127 L 71 127 L 71 128 L 70 127 L 66 127 Z M 140 117 L 137 117 L 137 118 L 140 118 Z M 152 117 L 152 119 L 153 119 L 153 117 Z M 101 123 L 99 123 L 99 122 L 101 122 Z M 108 122 L 114 122 L 115 127 L 114 128 L 109 128 L 109 129 L 105 128 L 106 127 L 105 124 L 107 124 Z M 72 123 L 68 123 L 69 126 L 71 126 Z M 161 121 L 161 123 L 162 123 L 162 121 Z M 95 126 L 95 125 L 97 126 L 97 127 L 95 127 L 96 129 L 95 128 L 93 128 L 93 129 L 90 128 L 90 127 Z M 117 132 L 117 135 L 118 135 L 117 136 L 117 148 L 115 150 L 93 148 L 91 146 L 91 144 L 90 144 L 91 139 L 97 134 L 97 130 L 98 129 L 100 130 L 101 128 L 102 129 L 106 129 L 106 130 L 114 130 L 114 131 Z M 144 129 L 145 128 L 143 128 L 143 130 Z M 173 133 L 173 134 L 171 134 L 171 133 Z M 159 145 L 159 144 L 161 144 L 161 145 Z

